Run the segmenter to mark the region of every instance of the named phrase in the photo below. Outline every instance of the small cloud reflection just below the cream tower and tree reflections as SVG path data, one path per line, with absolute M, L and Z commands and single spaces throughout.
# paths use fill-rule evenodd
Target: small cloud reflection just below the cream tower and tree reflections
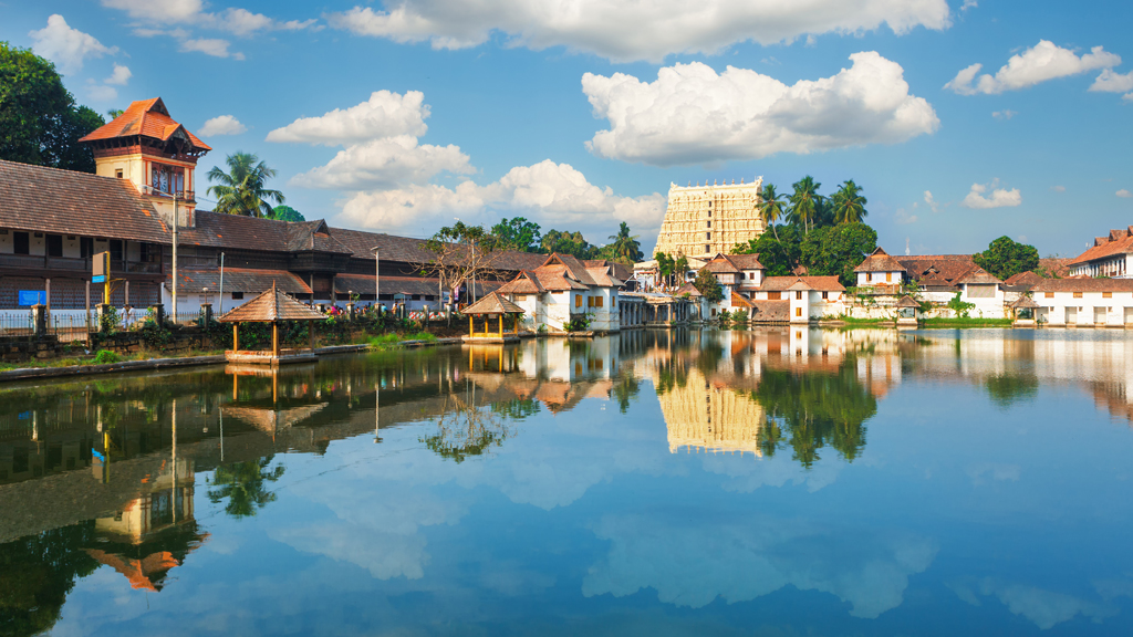
M 842 460 L 824 459 L 808 470 L 787 453 L 751 461 L 736 461 L 736 458 L 723 455 L 706 455 L 704 459 L 705 470 L 733 478 L 722 487 L 734 493 L 751 493 L 760 486 L 783 486 L 787 482 L 804 484 L 807 491 L 813 493 L 834 484 L 844 466 Z

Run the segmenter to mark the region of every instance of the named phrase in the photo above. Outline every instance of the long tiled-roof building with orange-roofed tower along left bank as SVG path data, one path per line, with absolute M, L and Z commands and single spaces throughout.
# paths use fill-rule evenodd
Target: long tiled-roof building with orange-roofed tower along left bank
M 451 297 L 451 286 L 442 289 L 438 279 L 421 274 L 421 264 L 434 258 L 424 240 L 322 220 L 290 223 L 198 210 L 196 163 L 211 148 L 173 120 L 161 99 L 134 102 L 83 142 L 94 152 L 96 175 L 0 161 L 0 311 L 34 303 L 79 311 L 100 303 L 101 286 L 92 289 L 91 275 L 92 256 L 102 252 L 111 255 L 112 305 L 163 303 L 171 309 L 174 210 L 179 312 L 205 303 L 228 311 L 273 282 L 300 300 L 374 303 L 374 248 L 381 256 L 376 300 L 420 307 Z M 545 260 L 503 253 L 493 264 L 497 280 L 475 291 L 479 296 Z

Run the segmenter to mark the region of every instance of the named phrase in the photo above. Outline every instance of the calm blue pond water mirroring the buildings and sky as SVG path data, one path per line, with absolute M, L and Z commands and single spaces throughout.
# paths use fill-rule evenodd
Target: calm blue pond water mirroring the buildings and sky
M 1131 380 L 784 329 L 8 385 L 0 634 L 1130 635 Z

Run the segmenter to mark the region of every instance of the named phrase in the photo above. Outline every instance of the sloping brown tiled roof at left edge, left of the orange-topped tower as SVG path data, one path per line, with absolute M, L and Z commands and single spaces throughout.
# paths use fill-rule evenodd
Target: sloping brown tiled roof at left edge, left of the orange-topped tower
M 164 222 L 129 181 L 3 160 L 0 228 L 169 243 Z

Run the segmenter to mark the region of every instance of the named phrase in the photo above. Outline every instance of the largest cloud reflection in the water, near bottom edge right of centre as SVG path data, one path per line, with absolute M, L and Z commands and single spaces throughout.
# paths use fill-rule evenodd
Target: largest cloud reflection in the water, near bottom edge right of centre
M 743 602 L 791 584 L 837 596 L 854 617 L 876 618 L 901 604 L 909 576 L 937 551 L 925 538 L 835 533 L 798 520 L 687 521 L 706 515 L 606 516 L 595 533 L 611 541 L 610 553 L 590 568 L 582 594 L 620 597 L 651 587 L 662 602 L 700 608 L 717 595 Z

